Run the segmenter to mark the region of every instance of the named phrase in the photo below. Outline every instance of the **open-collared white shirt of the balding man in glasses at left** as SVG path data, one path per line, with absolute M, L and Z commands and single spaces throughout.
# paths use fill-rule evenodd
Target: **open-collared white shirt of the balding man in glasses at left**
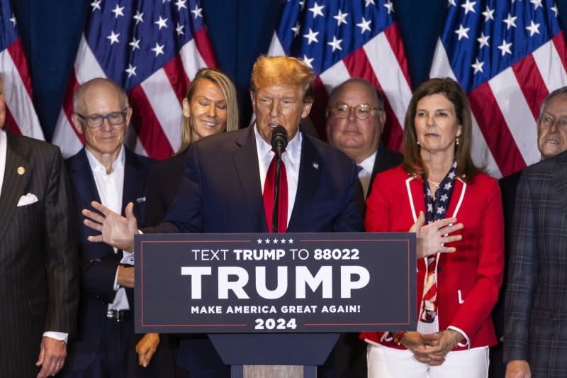
M 85 149 L 85 152 L 93 172 L 96 190 L 99 191 L 99 196 L 101 197 L 101 204 L 116 213 L 122 213 L 122 209 L 120 208 L 122 207 L 122 193 L 124 189 L 124 146 L 120 148 L 118 157 L 112 163 L 111 173 L 106 173 L 106 167 L 104 167 L 99 160 L 96 160 L 96 157 L 94 157 L 88 149 Z M 114 248 L 114 253 L 118 253 L 118 249 Z M 116 290 L 116 295 L 114 296 L 114 301 L 108 304 L 108 309 L 128 310 L 130 306 L 128 305 L 126 291 L 123 287 L 119 287 L 116 284 L 117 278 L 118 269 L 116 269 L 116 275 L 114 276 L 114 290 Z

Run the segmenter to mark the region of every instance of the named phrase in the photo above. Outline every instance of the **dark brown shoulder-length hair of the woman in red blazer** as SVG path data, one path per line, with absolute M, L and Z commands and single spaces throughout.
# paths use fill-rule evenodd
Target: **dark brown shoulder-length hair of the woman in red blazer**
M 464 90 L 457 82 L 449 77 L 444 79 L 430 79 L 420 85 L 412 96 L 408 111 L 405 113 L 403 128 L 403 169 L 409 174 L 422 174 L 423 160 L 420 146 L 417 145 L 417 133 L 415 131 L 415 112 L 420 99 L 442 94 L 451 101 L 455 108 L 457 121 L 461 125 L 459 145 L 455 145 L 455 160 L 457 162 L 456 175 L 464 182 L 470 182 L 481 169 L 476 167 L 471 157 L 473 145 L 473 122 L 471 117 L 471 106 Z

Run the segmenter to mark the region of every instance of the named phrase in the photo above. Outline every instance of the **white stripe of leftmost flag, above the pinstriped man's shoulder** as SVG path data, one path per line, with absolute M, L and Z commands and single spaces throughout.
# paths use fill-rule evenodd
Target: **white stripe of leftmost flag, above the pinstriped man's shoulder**
M 6 107 L 13 116 L 20 132 L 31 138 L 45 140 L 30 95 L 8 49 L 0 52 L 0 72 L 3 73 Z

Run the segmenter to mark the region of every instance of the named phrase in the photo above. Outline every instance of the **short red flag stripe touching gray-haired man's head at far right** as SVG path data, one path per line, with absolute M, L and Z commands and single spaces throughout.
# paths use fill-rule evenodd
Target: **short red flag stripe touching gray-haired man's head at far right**
M 544 79 L 537 68 L 534 55 L 528 54 L 524 59 L 512 65 L 512 71 L 516 75 L 522 94 L 526 98 L 529 110 L 532 111 L 534 119 L 539 116 L 539 104 L 549 94 Z

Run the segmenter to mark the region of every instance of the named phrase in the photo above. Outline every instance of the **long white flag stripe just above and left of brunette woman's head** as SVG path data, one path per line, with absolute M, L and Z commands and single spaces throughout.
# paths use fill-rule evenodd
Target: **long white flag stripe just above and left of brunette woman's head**
M 412 91 L 386 38 L 386 33 L 380 33 L 369 40 L 364 45 L 364 51 L 395 113 L 395 118 L 398 118 L 398 123 L 403 128 L 405 111 L 412 98 Z M 373 57 L 379 57 L 379 59 L 373 59 Z

